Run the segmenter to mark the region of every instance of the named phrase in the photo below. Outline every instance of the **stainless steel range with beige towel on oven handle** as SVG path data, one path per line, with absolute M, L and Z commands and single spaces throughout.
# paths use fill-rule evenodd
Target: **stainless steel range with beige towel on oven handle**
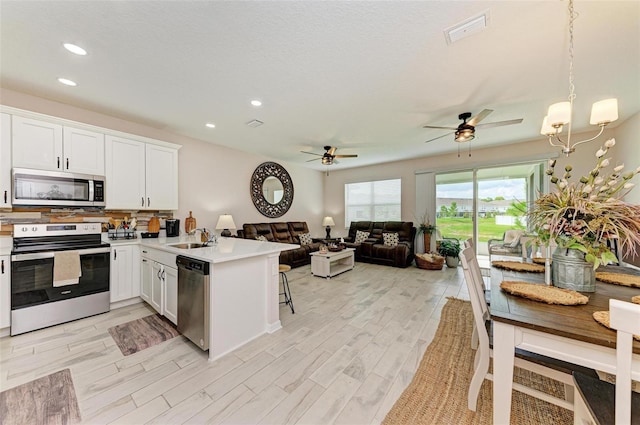
M 109 311 L 100 223 L 21 224 L 13 236 L 11 335 Z

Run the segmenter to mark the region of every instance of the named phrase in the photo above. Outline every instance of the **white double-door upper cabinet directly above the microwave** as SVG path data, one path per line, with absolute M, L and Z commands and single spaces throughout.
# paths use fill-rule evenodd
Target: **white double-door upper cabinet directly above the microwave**
M 13 166 L 104 175 L 104 135 L 13 116 Z

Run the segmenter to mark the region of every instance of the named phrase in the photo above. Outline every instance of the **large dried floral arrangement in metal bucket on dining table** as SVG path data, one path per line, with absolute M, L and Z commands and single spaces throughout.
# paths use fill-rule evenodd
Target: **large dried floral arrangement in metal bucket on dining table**
M 621 200 L 635 186 L 630 180 L 640 167 L 624 172 L 624 165 L 618 165 L 605 174 L 611 162 L 606 155 L 615 143 L 609 139 L 598 149 L 595 168 L 579 183 L 570 182 L 570 165 L 561 178 L 556 176 L 556 161 L 550 160 L 546 173 L 557 190 L 542 194 L 528 214 L 540 242 L 553 239 L 560 248 L 580 250 L 594 269 L 618 261 L 608 240 L 616 239 L 621 251 L 631 255 L 640 247 L 640 205 Z

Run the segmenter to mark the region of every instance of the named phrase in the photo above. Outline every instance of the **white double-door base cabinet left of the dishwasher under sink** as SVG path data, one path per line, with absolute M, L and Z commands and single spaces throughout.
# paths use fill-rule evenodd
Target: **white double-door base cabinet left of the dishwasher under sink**
M 142 248 L 140 297 L 174 324 L 178 324 L 178 269 L 176 256 Z

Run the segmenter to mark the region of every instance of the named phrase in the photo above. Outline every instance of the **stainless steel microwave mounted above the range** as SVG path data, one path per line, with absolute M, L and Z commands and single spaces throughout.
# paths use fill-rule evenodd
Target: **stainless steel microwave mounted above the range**
M 14 168 L 13 205 L 104 207 L 104 177 Z

